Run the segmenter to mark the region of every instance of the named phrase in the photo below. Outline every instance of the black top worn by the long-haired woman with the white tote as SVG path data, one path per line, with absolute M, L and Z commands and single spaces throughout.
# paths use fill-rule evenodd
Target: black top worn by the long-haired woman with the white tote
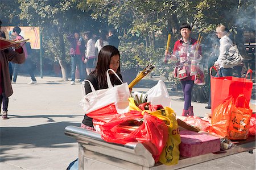
M 118 76 L 121 78 L 121 80 L 123 80 L 121 74 L 118 74 Z M 89 76 L 86 78 L 86 80 L 89 80 L 90 82 L 92 82 L 92 85 L 95 90 L 108 89 L 107 82 L 104 85 L 104 87 L 99 88 L 98 78 L 95 73 L 90 73 Z M 122 82 L 117 77 L 115 77 L 114 74 L 110 74 L 110 80 L 112 82 L 112 85 L 121 85 L 122 84 Z M 84 88 L 85 88 L 85 94 L 92 92 L 92 89 L 90 88 L 88 81 L 85 81 Z M 82 123 L 86 126 L 93 127 L 92 118 L 88 117 L 86 114 L 84 115 L 84 119 L 82 120 Z

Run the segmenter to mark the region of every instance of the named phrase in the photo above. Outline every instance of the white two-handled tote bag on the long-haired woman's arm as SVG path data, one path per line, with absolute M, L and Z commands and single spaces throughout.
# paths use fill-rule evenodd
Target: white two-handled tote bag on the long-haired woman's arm
M 92 92 L 82 97 L 81 101 L 79 102 L 79 104 L 82 106 L 82 109 L 85 111 L 85 114 L 108 106 L 112 103 L 121 102 L 122 104 L 127 103 L 127 106 L 129 105 L 127 98 L 130 97 L 130 90 L 127 82 L 122 82 L 123 84 L 121 85 L 113 86 L 110 80 L 109 71 L 112 71 L 115 76 L 122 82 L 121 78 L 118 77 L 117 73 L 115 73 L 113 69 L 108 69 L 106 72 L 108 89 L 95 90 L 92 82 L 86 80 L 89 82 Z

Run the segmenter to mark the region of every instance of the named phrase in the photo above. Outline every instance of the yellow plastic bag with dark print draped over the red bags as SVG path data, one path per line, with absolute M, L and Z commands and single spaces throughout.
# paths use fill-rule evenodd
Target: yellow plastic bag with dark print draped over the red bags
M 138 106 L 135 105 L 133 98 L 128 98 L 128 100 L 129 110 L 142 111 L 141 109 L 139 109 Z M 160 155 L 160 163 L 165 165 L 177 164 L 180 158 L 179 144 L 181 143 L 181 139 L 175 111 L 172 110 L 170 107 L 164 107 L 164 109 L 156 111 L 143 110 L 142 114 L 145 111 L 165 121 L 166 125 L 168 126 L 169 136 L 166 146 L 164 147 L 162 154 Z

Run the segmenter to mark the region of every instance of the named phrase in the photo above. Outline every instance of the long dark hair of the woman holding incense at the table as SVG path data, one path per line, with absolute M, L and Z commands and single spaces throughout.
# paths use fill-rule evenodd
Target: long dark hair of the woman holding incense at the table
M 93 73 L 97 75 L 98 87 L 100 89 L 104 88 L 107 84 L 106 71 L 108 71 L 111 57 L 113 57 L 114 55 L 118 55 L 120 57 L 118 49 L 112 45 L 106 45 L 102 47 L 100 53 L 98 53 L 98 63 Z M 120 65 L 116 73 L 118 74 L 118 76 L 121 76 Z M 113 74 L 110 74 L 110 78 L 112 82 L 114 82 L 114 80 L 116 79 Z

